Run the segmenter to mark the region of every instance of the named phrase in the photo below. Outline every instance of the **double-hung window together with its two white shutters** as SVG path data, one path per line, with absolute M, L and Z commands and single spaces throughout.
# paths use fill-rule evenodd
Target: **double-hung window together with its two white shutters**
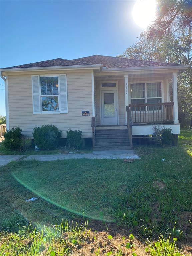
M 32 76 L 33 113 L 68 113 L 67 77 L 61 75 Z

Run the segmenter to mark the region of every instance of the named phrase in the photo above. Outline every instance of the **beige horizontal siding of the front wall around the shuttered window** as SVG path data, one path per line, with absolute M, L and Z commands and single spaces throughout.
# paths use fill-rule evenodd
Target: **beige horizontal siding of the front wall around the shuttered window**
M 42 124 L 52 124 L 66 137 L 68 129 L 81 129 L 82 137 L 92 137 L 92 88 L 91 71 L 54 72 L 67 74 L 68 113 L 33 114 L 31 75 L 9 75 L 9 125 L 22 128 L 23 135 L 32 137 L 33 128 Z M 36 73 L 34 72 L 33 75 Z M 50 75 L 53 73 L 50 73 Z M 90 116 L 82 116 L 89 110 Z

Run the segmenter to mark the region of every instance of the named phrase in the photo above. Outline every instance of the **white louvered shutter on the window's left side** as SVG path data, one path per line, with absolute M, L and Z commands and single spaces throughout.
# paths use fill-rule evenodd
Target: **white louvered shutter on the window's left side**
M 41 114 L 39 76 L 32 76 L 33 114 Z

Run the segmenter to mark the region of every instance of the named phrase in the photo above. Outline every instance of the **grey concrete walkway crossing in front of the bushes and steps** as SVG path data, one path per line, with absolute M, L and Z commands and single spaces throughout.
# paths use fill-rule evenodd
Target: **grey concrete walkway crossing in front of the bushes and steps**
M 25 155 L 10 155 L 0 156 L 0 166 L 6 165 L 11 161 L 16 161 Z M 39 160 L 39 161 L 53 161 L 65 159 L 139 159 L 133 150 L 108 150 L 108 151 L 93 151 L 93 153 L 71 153 L 71 154 L 57 154 L 57 155 L 30 155 L 25 156 L 23 160 Z

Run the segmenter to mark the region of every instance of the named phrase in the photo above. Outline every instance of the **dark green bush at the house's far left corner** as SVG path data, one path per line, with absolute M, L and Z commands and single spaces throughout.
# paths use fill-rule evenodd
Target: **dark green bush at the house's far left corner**
M 4 133 L 4 141 L 3 145 L 6 149 L 18 150 L 21 148 L 21 137 L 22 137 L 22 129 L 18 126 L 16 128 L 12 128 L 11 130 L 7 130 Z

